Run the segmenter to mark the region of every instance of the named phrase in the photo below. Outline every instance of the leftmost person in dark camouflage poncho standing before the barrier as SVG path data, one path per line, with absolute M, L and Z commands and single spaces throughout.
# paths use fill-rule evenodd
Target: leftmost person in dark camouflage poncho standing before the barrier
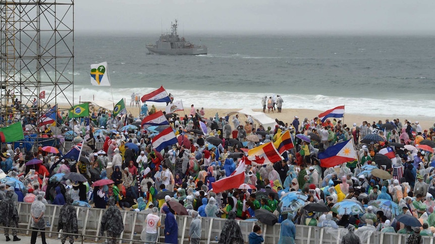
M 12 196 L 14 195 L 13 191 L 7 191 L 5 194 L 5 199 L 0 201 L 0 223 L 3 223 L 4 226 L 11 227 L 12 235 L 14 236 L 14 241 L 21 240 L 17 237 L 18 230 L 18 211 L 15 206 L 15 202 L 12 200 Z M 11 240 L 9 237 L 9 229 L 5 228 L 5 236 L 6 241 Z

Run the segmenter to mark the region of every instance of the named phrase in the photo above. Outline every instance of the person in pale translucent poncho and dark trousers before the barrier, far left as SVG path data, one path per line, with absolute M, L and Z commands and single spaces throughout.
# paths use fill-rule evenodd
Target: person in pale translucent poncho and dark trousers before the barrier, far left
M 44 220 L 44 212 L 45 212 L 45 204 L 42 202 L 42 195 L 38 195 L 35 198 L 35 201 L 32 203 L 30 207 L 30 213 L 32 215 L 32 237 L 30 239 L 30 244 L 36 243 L 36 236 L 38 235 L 38 230 L 45 230 L 45 220 Z M 41 232 L 42 244 L 47 244 L 45 242 L 45 233 Z

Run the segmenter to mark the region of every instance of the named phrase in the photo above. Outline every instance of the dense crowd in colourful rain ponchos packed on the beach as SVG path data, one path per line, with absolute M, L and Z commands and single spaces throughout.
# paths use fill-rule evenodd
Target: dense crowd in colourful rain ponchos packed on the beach
M 277 104 L 282 105 L 282 100 Z M 274 106 L 270 109 L 273 111 Z M 179 227 L 174 215 L 181 213 L 173 208 L 172 202 L 175 201 L 192 217 L 189 231 L 191 243 L 200 241 L 199 217 L 227 219 L 219 243 L 243 243 L 245 240 L 235 219 L 255 218 L 255 210 L 258 209 L 269 211 L 281 223 L 279 243 L 294 242 L 295 224 L 332 229 L 346 227 L 349 232 L 343 237 L 343 243 L 359 241 L 367 233 L 363 232 L 363 235 L 362 231 L 406 233 L 410 240 L 421 239 L 419 236 L 432 235 L 435 231 L 435 178 L 432 179 L 431 164 L 435 156 L 416 147 L 405 148 L 405 145 L 416 146 L 423 139 L 433 141 L 435 124 L 424 131 L 418 122 L 405 120 L 402 125 L 399 119 L 372 124 L 364 121 L 360 126 L 354 123 L 348 127 L 342 124 L 341 119 L 331 118 L 321 122 L 319 118 L 305 118 L 299 122 L 299 118 L 294 116 L 294 120 L 287 123 L 276 120 L 275 128 L 263 128 L 261 124 L 254 126 L 256 122 L 250 117 L 246 117 L 246 121 L 240 121 L 238 115 L 232 119 L 218 114 L 206 118 L 203 109 L 200 112 L 192 105 L 190 115 L 168 116 L 175 134 L 186 137 L 189 143 L 174 144 L 156 151 L 151 142 L 158 133 L 148 127 L 139 128 L 139 125 L 136 129 L 131 127 L 121 131 L 126 124 L 133 125 L 150 112 L 155 112 L 155 108 L 148 111 L 146 104 L 142 106 L 138 118 L 131 114 L 113 117 L 99 109 L 92 112 L 89 126 L 83 119 L 68 119 L 65 115 L 62 125 L 75 134 L 71 140 L 76 145 L 82 143 L 83 147 L 89 147 L 82 152 L 84 159 L 80 157 L 77 161 L 64 158 L 61 153 L 43 151 L 41 147 L 26 152 L 19 147 L 12 148 L 12 145 L 5 147 L 0 155 L 0 179 L 6 179 L 0 185 L 0 206 L 4 206 L 0 208 L 1 222 L 5 226 L 16 227 L 18 213 L 14 202 L 32 203 L 31 243 L 35 243 L 38 230 L 45 228 L 45 205 L 63 205 L 58 224 L 58 228 L 66 233 L 62 243 L 68 237 L 73 242 L 73 235 L 68 234 L 77 233 L 77 219 L 72 214 L 72 206 L 107 208 L 99 234 L 106 231 L 107 236 L 114 237 L 110 238 L 110 243 L 115 243 L 124 226 L 120 209 L 147 211 L 141 238 L 153 242 L 158 229 L 162 228 L 165 242 L 177 243 Z M 278 107 L 278 112 L 281 112 L 281 107 Z M 205 134 L 201 132 L 200 121 L 207 125 Z M 232 138 L 234 130 L 237 130 L 237 135 Z M 266 166 L 245 167 L 245 183 L 252 185 L 252 189 L 213 191 L 212 183 L 230 177 L 247 149 L 275 141 L 285 131 L 290 131 L 294 148 L 284 152 L 281 161 Z M 312 139 L 306 142 L 296 137 L 297 134 Z M 377 134 L 383 139 L 361 143 L 361 139 L 368 134 Z M 247 140 L 252 135 L 258 140 Z M 219 139 L 222 143 L 213 145 L 210 138 Z M 354 140 L 358 159 L 322 168 L 318 153 L 348 139 Z M 103 143 L 103 146 L 97 148 L 97 142 Z M 390 146 L 392 143 L 395 146 Z M 388 147 L 394 151 L 395 157 L 391 158 L 390 166 L 379 167 L 372 158 Z M 32 159 L 40 159 L 41 163 L 27 165 L 26 162 Z M 365 170 L 378 167 L 388 172 L 391 180 L 376 178 Z M 50 178 L 71 172 L 81 174 L 86 181 Z M 92 187 L 99 180 L 112 180 L 113 183 Z M 293 191 L 306 196 L 307 200 L 297 209 L 283 211 L 281 199 Z M 334 211 L 336 204 L 349 200 L 355 201 L 354 204 L 360 205 L 365 212 L 349 215 Z M 389 200 L 398 205 L 397 211 L 373 206 L 374 200 Z M 330 211 L 305 210 L 304 206 L 311 203 L 323 204 Z M 165 223 L 160 223 L 159 214 L 166 214 Z M 422 227 L 411 228 L 398 221 L 395 217 L 400 214 L 419 219 Z M 17 231 L 12 230 L 12 233 L 14 240 L 19 240 Z M 5 230 L 5 235 L 9 240 L 8 230 Z M 42 243 L 45 243 L 43 232 L 41 237 Z M 262 241 L 261 228 L 255 225 L 249 234 L 249 243 Z

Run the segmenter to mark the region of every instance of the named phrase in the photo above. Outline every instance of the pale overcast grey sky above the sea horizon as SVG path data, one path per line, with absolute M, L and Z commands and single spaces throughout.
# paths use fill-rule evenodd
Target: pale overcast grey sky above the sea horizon
M 434 0 L 79 0 L 75 31 L 435 34 Z M 161 25 L 162 24 L 162 25 Z

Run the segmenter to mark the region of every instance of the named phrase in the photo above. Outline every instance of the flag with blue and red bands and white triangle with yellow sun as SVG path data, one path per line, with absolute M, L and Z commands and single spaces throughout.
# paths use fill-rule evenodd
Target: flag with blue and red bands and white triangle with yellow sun
M 318 158 L 321 167 L 330 168 L 343 162 L 353 161 L 357 156 L 352 140 L 347 140 L 328 147 L 318 154 Z

